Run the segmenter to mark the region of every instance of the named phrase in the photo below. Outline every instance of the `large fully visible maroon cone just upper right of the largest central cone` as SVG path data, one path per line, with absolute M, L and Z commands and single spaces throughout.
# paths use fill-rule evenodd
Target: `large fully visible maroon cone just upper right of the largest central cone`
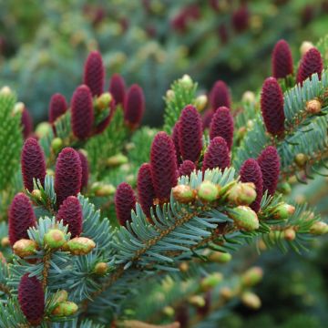
M 200 113 L 191 105 L 186 106 L 179 118 L 179 150 L 182 159 L 197 162 L 202 149 L 202 124 Z

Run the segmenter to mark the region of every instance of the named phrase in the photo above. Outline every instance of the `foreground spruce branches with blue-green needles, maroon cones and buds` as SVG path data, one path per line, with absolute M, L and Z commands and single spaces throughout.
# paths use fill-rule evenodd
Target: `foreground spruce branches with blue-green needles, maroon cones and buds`
M 246 6 L 231 23 L 235 33 L 249 26 Z M 251 289 L 263 272 L 235 271 L 235 251 L 302 253 L 328 233 L 315 210 L 281 192 L 289 176 L 304 182 L 326 168 L 323 51 L 310 49 L 295 76 L 279 41 L 273 77 L 241 101 L 218 80 L 207 105 L 185 75 L 164 97 L 162 128 L 139 127 L 142 88 L 116 74 L 106 91 L 102 57 L 91 52 L 70 106 L 54 95 L 46 131 L 24 146 L 24 104 L 1 89 L 0 140 L 12 159 L 0 148 L 1 247 L 11 246 L 5 260 L 0 252 L 0 326 L 141 327 L 173 316 L 216 326 L 211 313 L 239 302 L 258 309 Z

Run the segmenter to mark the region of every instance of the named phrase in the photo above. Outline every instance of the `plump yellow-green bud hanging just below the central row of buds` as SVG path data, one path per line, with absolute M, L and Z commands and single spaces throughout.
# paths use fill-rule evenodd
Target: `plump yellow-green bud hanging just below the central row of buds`
M 229 213 L 237 227 L 243 231 L 254 231 L 259 229 L 259 219 L 256 213 L 248 206 L 238 206 Z

